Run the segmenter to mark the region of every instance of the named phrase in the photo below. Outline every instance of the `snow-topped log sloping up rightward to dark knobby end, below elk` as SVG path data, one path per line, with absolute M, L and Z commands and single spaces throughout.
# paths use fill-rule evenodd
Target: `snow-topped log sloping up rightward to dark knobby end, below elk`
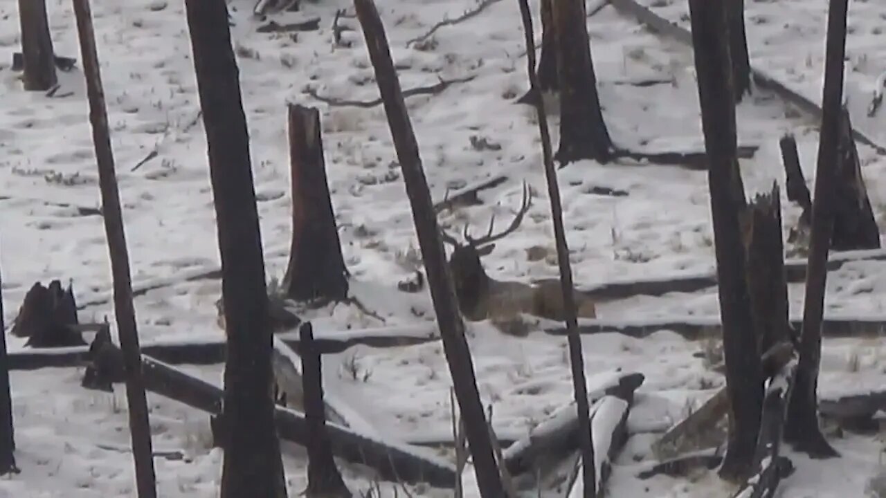
M 587 401 L 594 405 L 605 396 L 614 396 L 633 403 L 633 393 L 643 383 L 640 373 L 606 373 L 588 378 Z M 575 403 L 571 402 L 536 425 L 524 438 L 517 440 L 504 452 L 504 463 L 511 475 L 531 471 L 541 458 L 556 458 L 578 449 L 579 418 Z M 596 439 L 595 439 L 596 441 Z M 599 476 L 599 474 L 596 474 Z

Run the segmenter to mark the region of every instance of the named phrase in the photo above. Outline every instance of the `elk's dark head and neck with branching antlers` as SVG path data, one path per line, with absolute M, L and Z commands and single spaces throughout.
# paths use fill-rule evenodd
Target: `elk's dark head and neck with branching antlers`
M 505 230 L 493 233 L 494 215 L 489 220 L 489 230 L 486 230 L 486 235 L 482 237 L 471 237 L 468 227 L 465 226 L 462 230 L 463 243 L 447 234 L 445 230 L 440 229 L 440 237 L 443 238 L 443 242 L 453 247 L 453 252 L 449 256 L 449 271 L 452 273 L 455 283 L 455 296 L 458 299 L 459 307 L 466 317 L 477 320 L 486 316 L 486 298 L 494 283 L 486 274 L 486 269 L 483 268 L 480 258 L 493 252 L 496 241 L 517 230 L 531 205 L 532 194 L 528 185 L 524 183 L 520 208 Z

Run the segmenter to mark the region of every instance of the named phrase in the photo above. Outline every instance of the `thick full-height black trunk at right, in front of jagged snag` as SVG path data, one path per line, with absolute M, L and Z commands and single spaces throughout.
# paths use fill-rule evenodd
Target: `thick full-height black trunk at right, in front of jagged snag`
M 690 0 L 693 50 L 702 108 L 704 148 L 708 156 L 714 249 L 717 255 L 720 315 L 731 401 L 724 479 L 748 477 L 760 427 L 763 379 L 745 281 L 745 256 L 739 213 L 746 201 L 735 156 L 735 107 L 729 66 L 724 6 Z

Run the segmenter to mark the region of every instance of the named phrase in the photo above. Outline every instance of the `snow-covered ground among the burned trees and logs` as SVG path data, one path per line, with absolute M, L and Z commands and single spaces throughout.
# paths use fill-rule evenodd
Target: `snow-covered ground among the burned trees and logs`
M 685 2 L 644 0 L 664 17 L 688 25 Z M 50 25 L 59 55 L 79 58 L 69 2 L 48 0 Z M 827 3 L 823 0 L 747 2 L 752 64 L 766 68 L 819 99 Z M 11 323 L 35 281 L 74 279 L 80 302 L 101 301 L 111 287 L 101 219 L 78 208 L 98 206 L 97 170 L 87 121 L 82 73 L 60 73 L 56 97 L 28 94 L 9 67 L 19 50 L 19 19 L 14 0 L 0 0 L 0 262 L 4 318 Z M 473 8 L 474 1 L 381 0 L 378 8 L 400 69 L 403 88 L 430 85 L 439 78 L 473 76 L 436 96 L 408 98 L 431 191 L 443 198 L 492 175 L 509 180 L 483 191 L 485 206 L 460 208 L 441 221 L 460 229 L 464 222 L 484 226 L 491 214 L 507 217 L 516 208 L 521 183 L 535 202 L 517 233 L 486 257 L 499 278 L 528 281 L 556 276 L 549 206 L 540 164 L 540 144 L 530 108 L 512 104 L 526 89 L 525 51 L 517 3 L 498 1 L 478 16 L 441 27 L 429 42 L 407 46 L 439 20 Z M 408 200 L 385 114 L 370 109 L 317 102 L 306 89 L 325 97 L 373 99 L 377 87 L 353 18 L 339 20 L 344 44 L 334 43 L 335 12 L 344 0 L 307 2 L 302 11 L 275 17 L 280 24 L 319 17 L 321 28 L 290 34 L 262 34 L 250 17 L 253 3 L 231 0 L 232 28 L 252 138 L 255 189 L 259 198 L 268 276 L 281 276 L 289 246 L 289 173 L 285 103 L 318 105 L 323 113 L 324 147 L 343 251 L 354 276 L 354 295 L 385 318 L 381 323 L 357 307 L 338 305 L 307 315 L 317 330 L 409 324 L 430 320 L 425 295 L 403 294 L 396 284 L 415 268 L 416 237 Z M 538 4 L 532 2 L 536 26 Z M 152 338 L 220 338 L 215 324 L 217 281 L 186 276 L 218 264 L 206 141 L 198 118 L 198 97 L 190 40 L 180 0 L 128 0 L 93 5 L 113 147 L 133 279 L 167 285 L 136 298 L 139 332 Z M 851 108 L 867 107 L 878 74 L 886 69 L 882 26 L 886 5 L 869 0 L 851 4 L 847 54 Z M 605 7 L 588 19 L 604 115 L 617 144 L 643 151 L 686 151 L 703 147 L 692 54 L 663 42 L 633 19 Z M 537 36 L 538 38 L 539 36 Z M 664 79 L 639 87 L 630 82 Z M 853 121 L 886 143 L 884 118 L 854 111 Z M 556 116 L 551 117 L 556 123 Z M 742 161 L 749 193 L 781 181 L 778 138 L 797 136 L 807 178 L 812 178 L 818 133 L 815 121 L 787 109 L 766 92 L 738 108 L 739 142 L 758 145 L 753 160 Z M 556 135 L 556 126 L 553 127 Z M 556 140 L 556 136 L 555 136 Z M 155 150 L 158 157 L 133 171 Z M 886 161 L 859 144 L 867 188 L 881 222 L 886 213 Z M 706 174 L 678 167 L 579 162 L 560 172 L 563 209 L 575 281 L 594 286 L 611 280 L 667 276 L 713 268 Z M 600 189 L 626 192 L 613 197 Z M 796 206 L 785 206 L 786 226 L 796 222 Z M 881 223 L 882 224 L 882 223 Z M 787 229 L 786 229 L 787 230 Z M 529 258 L 546 251 L 547 257 Z M 532 261 L 531 261 L 532 260 Z M 794 314 L 802 290 L 791 286 Z M 886 263 L 846 265 L 828 281 L 827 312 L 883 315 Z M 712 290 L 694 294 L 636 297 L 602 304 L 607 320 L 660 315 L 717 315 Z M 82 312 L 82 320 L 113 314 L 105 302 Z M 471 327 L 480 393 L 494 405 L 496 429 L 525 433 L 571 399 L 565 340 L 533 333 L 528 338 L 501 334 L 493 327 Z M 22 347 L 8 338 L 12 351 Z M 703 345 L 670 331 L 648 338 L 600 334 L 584 338 L 589 373 L 612 369 L 646 375 L 629 422 L 635 430 L 661 430 L 701 402 L 722 378 L 694 356 Z M 822 393 L 874 387 L 886 382 L 886 354 L 880 339 L 830 340 L 822 361 Z M 377 430 L 408 439 L 449 432 L 451 384 L 437 343 L 392 349 L 355 347 L 325 360 L 327 389 L 354 403 Z M 187 368 L 214 382 L 221 366 Z M 353 375 L 354 372 L 360 375 Z M 104 497 L 133 494 L 125 397 L 84 391 L 82 372 L 51 369 L 12 373 L 16 436 L 22 473 L 0 480 L 0 496 Z M 384 400 L 378 403 L 378 400 Z M 214 496 L 221 454 L 209 449 L 207 417 L 173 401 L 149 395 L 155 445 L 181 450 L 183 460 L 157 460 L 161 496 Z M 633 474 L 649 461 L 653 434 L 629 441 L 613 470 L 617 496 L 706 497 L 726 494 L 710 474 L 684 479 L 637 481 Z M 797 473 L 783 485 L 784 497 L 861 496 L 879 465 L 880 444 L 847 436 L 835 440 L 843 459 L 815 463 L 797 456 Z M 291 494 L 305 483 L 306 461 L 299 448 L 285 445 Z M 354 489 L 368 482 L 346 468 Z M 417 490 L 416 494 L 421 494 Z M 439 494 L 439 493 L 438 493 Z M 426 495 L 431 495 L 428 492 Z M 439 494 L 446 495 L 446 494 Z

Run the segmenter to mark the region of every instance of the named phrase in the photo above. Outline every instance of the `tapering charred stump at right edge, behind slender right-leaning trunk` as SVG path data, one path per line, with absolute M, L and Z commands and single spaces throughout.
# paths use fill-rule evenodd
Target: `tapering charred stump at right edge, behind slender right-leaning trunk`
M 861 175 L 859 150 L 852 137 L 849 111 L 840 113 L 839 170 L 834 197 L 834 235 L 831 248 L 835 251 L 879 249 L 880 229 L 874 219 L 867 187 Z

